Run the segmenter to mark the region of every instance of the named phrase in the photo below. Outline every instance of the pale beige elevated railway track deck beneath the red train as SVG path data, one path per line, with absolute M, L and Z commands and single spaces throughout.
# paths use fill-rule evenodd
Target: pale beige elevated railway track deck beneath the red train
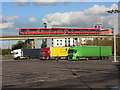
M 113 38 L 113 35 L 3 35 L 0 36 L 0 40 L 24 40 L 24 39 L 48 39 L 48 38 Z M 116 35 L 116 38 L 120 38 L 120 35 Z

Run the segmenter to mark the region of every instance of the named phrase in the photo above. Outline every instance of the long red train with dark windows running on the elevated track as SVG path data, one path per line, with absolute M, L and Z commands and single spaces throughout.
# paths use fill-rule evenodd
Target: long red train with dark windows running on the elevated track
M 100 28 L 20 28 L 19 35 L 101 34 Z

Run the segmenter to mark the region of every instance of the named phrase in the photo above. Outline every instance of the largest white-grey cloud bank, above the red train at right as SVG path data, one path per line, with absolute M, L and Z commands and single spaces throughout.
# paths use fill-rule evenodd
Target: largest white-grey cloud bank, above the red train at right
M 42 19 L 42 22 L 48 22 L 51 25 L 62 26 L 79 26 L 90 27 L 96 23 L 103 23 L 104 27 L 112 27 L 113 17 L 107 13 L 107 10 L 117 9 L 117 5 L 113 4 L 110 8 L 104 5 L 94 5 L 84 11 L 66 12 L 66 13 L 53 13 L 49 14 Z

